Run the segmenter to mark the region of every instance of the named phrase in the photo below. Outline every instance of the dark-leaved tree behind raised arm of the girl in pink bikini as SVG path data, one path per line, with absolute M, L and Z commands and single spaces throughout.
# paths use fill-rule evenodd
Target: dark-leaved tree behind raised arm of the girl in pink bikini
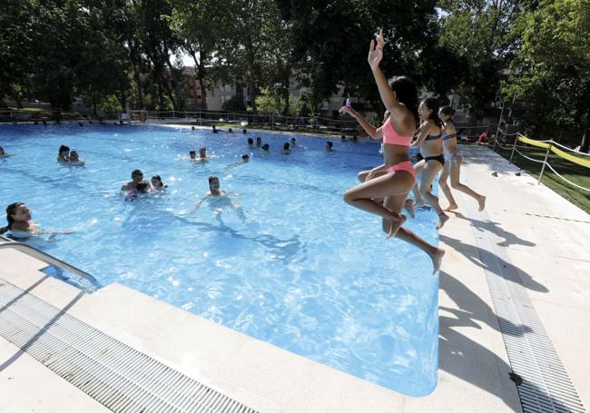
M 308 98 L 314 111 L 343 85 L 345 93 L 373 103 L 382 112 L 366 64 L 369 41 L 380 27 L 385 29 L 388 41 L 383 61 L 388 76 L 408 74 L 419 85 L 441 92 L 457 82 L 452 72 L 442 76 L 446 84 L 439 82 L 440 67 L 431 64 L 441 56 L 434 0 L 411 4 L 402 0 L 278 3 L 283 19 L 291 25 L 294 55 L 301 68 L 300 82 L 310 88 Z M 446 60 L 456 59 L 449 54 Z

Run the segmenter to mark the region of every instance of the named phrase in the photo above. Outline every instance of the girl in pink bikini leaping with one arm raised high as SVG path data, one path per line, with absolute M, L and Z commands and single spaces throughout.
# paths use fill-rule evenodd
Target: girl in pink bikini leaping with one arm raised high
M 396 236 L 428 253 L 434 270 L 440 268 L 444 250 L 430 245 L 418 235 L 402 227 L 406 217 L 402 211 L 408 192 L 416 182 L 416 172 L 409 161 L 408 146 L 416 132 L 418 123 L 418 90 L 416 84 L 406 76 L 395 78 L 388 84 L 379 63 L 383 58 L 385 39 L 379 32 L 377 44 L 371 40 L 369 65 L 379 87 L 381 100 L 391 115 L 381 127 L 383 135 L 383 156 L 385 163 L 376 174 L 379 176 L 360 183 L 344 194 L 344 201 L 363 211 L 383 218 L 383 231 L 388 237 Z M 375 199 L 384 198 L 383 205 Z

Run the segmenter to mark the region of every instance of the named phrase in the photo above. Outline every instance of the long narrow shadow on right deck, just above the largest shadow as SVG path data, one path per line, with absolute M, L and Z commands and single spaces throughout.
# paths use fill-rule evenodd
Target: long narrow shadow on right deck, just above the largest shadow
M 529 290 L 549 292 L 546 286 L 534 280 L 525 270 L 516 268 L 516 266 L 498 257 L 492 251 L 482 250 L 475 246 L 465 244 L 447 235 L 439 234 L 438 239 L 446 243 L 453 250 L 463 254 L 478 267 L 490 271 L 506 281 L 516 282 Z

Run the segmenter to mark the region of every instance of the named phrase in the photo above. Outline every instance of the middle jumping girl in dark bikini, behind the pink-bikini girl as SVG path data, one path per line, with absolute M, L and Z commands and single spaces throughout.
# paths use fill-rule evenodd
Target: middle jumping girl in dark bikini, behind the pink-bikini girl
M 422 197 L 426 198 L 428 204 L 437 211 L 438 225 L 440 230 L 445 222 L 448 221 L 448 215 L 440 208 L 438 197 L 432 194 L 432 182 L 445 166 L 445 156 L 442 152 L 442 130 L 443 123 L 438 117 L 438 101 L 434 97 L 424 99 L 418 106 L 420 115 L 420 127 L 418 129 L 418 139 L 410 145 L 411 148 L 420 148 L 422 160 L 414 165 L 417 174 L 420 174 L 420 185 L 414 187 L 414 196 L 416 203 L 424 205 Z

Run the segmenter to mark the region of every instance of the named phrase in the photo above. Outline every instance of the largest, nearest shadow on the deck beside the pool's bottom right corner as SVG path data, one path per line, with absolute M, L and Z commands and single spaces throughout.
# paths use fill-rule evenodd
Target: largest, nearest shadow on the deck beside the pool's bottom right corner
M 516 384 L 509 377 L 509 374 L 513 372 L 511 366 L 493 351 L 468 338 L 467 334 L 464 335 L 457 331 L 457 328 L 460 328 L 461 331 L 481 329 L 481 322 L 499 330 L 496 314 L 459 280 L 444 271 L 440 271 L 439 274 L 440 288 L 447 292 L 460 309 L 440 307 L 449 315 L 439 317 L 439 369 L 496 396 L 513 411 L 522 411 L 517 388 L 515 388 Z M 508 321 L 504 320 L 504 322 Z M 509 324 L 514 327 L 514 330 L 508 329 L 509 334 L 522 335 L 531 331 L 526 326 Z M 516 373 L 518 372 L 516 371 Z M 521 386 L 526 386 L 527 390 L 534 393 L 534 397 L 549 401 L 556 408 L 555 411 L 568 411 L 563 402 L 552 398 L 547 394 L 545 388 L 539 388 L 535 383 L 526 379 L 525 373 L 523 374 Z

